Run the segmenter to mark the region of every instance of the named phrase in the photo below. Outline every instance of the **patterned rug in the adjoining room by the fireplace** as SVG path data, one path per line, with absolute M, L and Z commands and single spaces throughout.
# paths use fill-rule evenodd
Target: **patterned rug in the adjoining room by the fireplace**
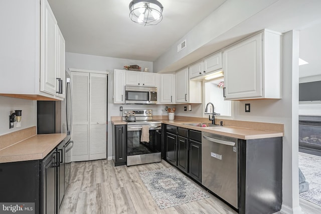
M 309 189 L 300 196 L 321 206 L 321 157 L 299 154 L 299 167 L 309 183 Z

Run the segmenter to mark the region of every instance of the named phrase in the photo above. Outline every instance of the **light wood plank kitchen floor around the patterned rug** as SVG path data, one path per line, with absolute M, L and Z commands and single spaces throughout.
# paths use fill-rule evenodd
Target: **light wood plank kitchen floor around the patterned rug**
M 60 209 L 61 214 L 237 213 L 210 193 L 210 197 L 206 199 L 159 209 L 138 173 L 173 167 L 164 160 L 160 163 L 129 167 L 114 167 L 112 160 L 94 160 L 72 164 L 71 182 Z

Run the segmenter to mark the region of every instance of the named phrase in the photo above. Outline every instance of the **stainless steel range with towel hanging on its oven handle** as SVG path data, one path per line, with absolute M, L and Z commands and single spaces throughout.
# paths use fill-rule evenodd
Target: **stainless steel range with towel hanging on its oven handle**
M 135 121 L 128 121 L 128 115 L 134 115 Z M 122 119 L 127 121 L 127 166 L 160 162 L 161 141 L 156 139 L 162 123 L 152 119 L 152 110 L 123 109 Z

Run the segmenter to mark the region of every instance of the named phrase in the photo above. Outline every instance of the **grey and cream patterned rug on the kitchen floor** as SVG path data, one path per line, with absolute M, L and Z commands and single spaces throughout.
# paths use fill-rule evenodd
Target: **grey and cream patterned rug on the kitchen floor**
M 140 172 L 139 175 L 161 209 L 209 197 L 176 169 Z

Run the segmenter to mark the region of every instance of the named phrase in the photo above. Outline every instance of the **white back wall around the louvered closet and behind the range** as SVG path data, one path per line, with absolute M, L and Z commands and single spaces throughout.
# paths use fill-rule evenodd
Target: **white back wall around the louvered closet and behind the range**
M 142 69 L 147 67 L 149 72 L 152 72 L 152 62 L 138 61 L 138 60 L 127 60 L 112 57 L 101 57 L 92 56 L 85 54 L 75 54 L 66 53 L 66 70 L 69 68 L 76 69 L 87 69 L 87 70 L 97 70 L 97 71 L 109 71 L 108 75 L 108 104 L 107 104 L 107 157 L 110 159 L 112 156 L 112 132 L 111 132 L 111 116 L 120 116 L 119 107 L 122 106 L 123 109 L 140 109 L 148 108 L 153 110 L 154 115 L 166 114 L 165 106 L 163 105 L 121 105 L 112 103 L 112 73 L 114 69 L 123 69 L 124 65 L 139 65 Z

